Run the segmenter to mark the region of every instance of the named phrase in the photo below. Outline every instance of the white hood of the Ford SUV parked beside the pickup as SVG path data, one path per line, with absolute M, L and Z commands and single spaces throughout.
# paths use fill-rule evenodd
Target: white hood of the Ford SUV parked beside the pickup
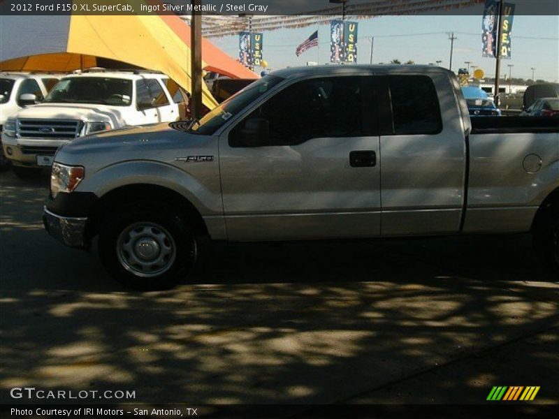
M 119 109 L 121 108 L 121 109 Z M 79 119 L 87 122 L 110 122 L 114 127 L 126 125 L 119 106 L 88 103 L 39 103 L 17 112 L 18 118 Z

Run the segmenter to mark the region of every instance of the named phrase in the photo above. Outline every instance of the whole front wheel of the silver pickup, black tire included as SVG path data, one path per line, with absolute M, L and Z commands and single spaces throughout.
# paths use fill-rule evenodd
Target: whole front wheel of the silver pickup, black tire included
M 158 238 L 161 235 L 165 237 L 163 240 Z M 141 258 L 141 246 L 151 249 L 147 252 L 151 252 L 147 255 L 149 259 Z M 167 247 L 174 250 L 162 257 Z M 159 253 L 153 249 L 159 249 Z M 166 205 L 134 203 L 119 207 L 103 223 L 99 235 L 99 257 L 103 266 L 117 281 L 136 290 L 175 286 L 194 267 L 197 256 L 193 230 Z M 149 264 L 154 265 L 146 268 Z

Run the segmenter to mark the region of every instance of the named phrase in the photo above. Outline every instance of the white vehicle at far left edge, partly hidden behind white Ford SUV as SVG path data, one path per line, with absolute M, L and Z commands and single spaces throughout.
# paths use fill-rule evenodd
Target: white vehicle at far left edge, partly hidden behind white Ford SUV
M 6 119 L 43 100 L 61 75 L 48 73 L 0 73 L 0 133 Z M 10 167 L 0 142 L 0 170 Z

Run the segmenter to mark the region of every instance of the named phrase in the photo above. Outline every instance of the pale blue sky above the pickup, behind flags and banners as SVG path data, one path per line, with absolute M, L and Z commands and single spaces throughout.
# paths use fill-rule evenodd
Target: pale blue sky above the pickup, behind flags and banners
M 358 20 L 358 64 L 370 61 L 370 40 L 374 36 L 373 64 L 392 59 L 416 64 L 441 60 L 449 67 L 451 41 L 447 32 L 457 39 L 453 48 L 453 71 L 465 68 L 465 61 L 480 67 L 486 77 L 495 75 L 495 59 L 481 57 L 481 16 L 380 16 Z M 319 30 L 319 48 L 307 50 L 296 57 L 297 45 Z M 264 33 L 263 58 L 270 69 L 305 66 L 307 61 L 325 64 L 330 59 L 330 26 L 320 24 L 300 29 L 278 29 Z M 511 59 L 501 61 L 501 75 L 559 82 L 559 16 L 516 15 L 512 27 Z M 233 57 L 238 57 L 238 37 L 210 38 L 212 43 Z M 513 67 L 509 68 L 508 64 Z M 261 69 L 257 69 L 259 71 Z

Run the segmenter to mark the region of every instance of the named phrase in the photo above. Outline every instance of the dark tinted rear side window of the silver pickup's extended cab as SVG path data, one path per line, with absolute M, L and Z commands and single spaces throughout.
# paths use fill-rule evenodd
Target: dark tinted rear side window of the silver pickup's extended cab
M 433 80 L 426 75 L 389 76 L 393 135 L 437 134 L 442 119 Z

